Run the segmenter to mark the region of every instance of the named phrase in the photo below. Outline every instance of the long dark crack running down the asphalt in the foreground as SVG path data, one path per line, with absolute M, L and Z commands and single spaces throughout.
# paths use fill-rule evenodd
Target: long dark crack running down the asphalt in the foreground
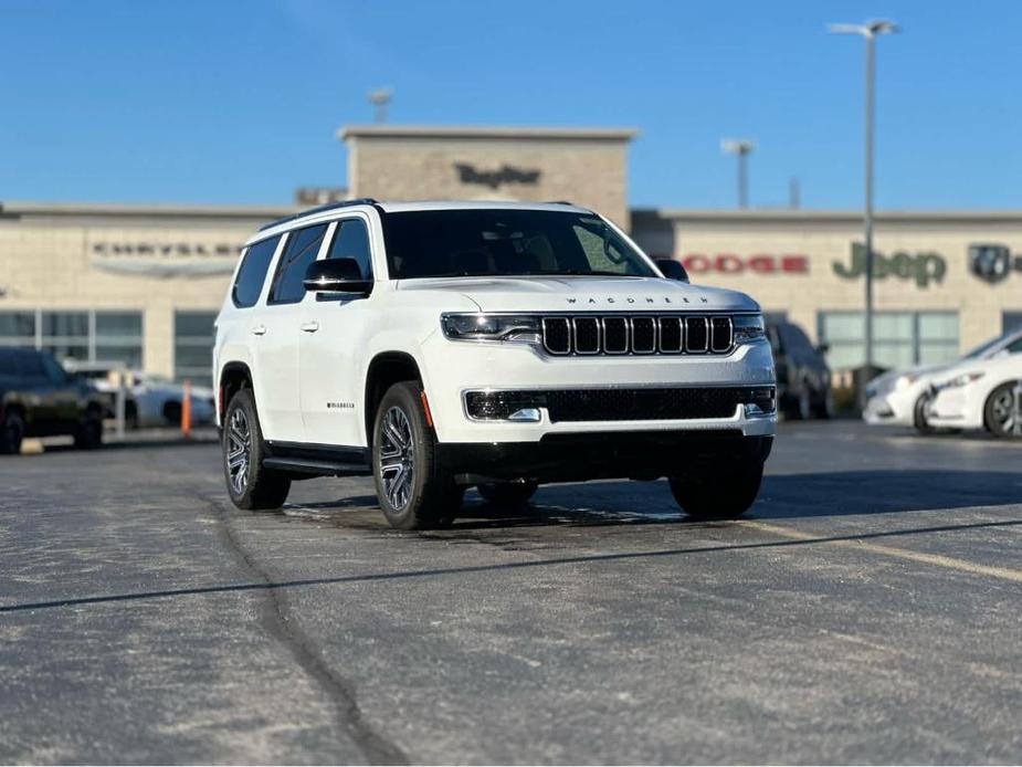
M 231 528 L 228 509 L 219 501 L 196 494 L 212 511 L 221 540 L 244 567 L 266 585 L 267 599 L 260 606 L 260 619 L 266 632 L 281 642 L 291 652 L 298 665 L 327 694 L 337 712 L 337 723 L 355 745 L 365 755 L 369 764 L 407 765 L 409 758 L 404 752 L 386 737 L 377 733 L 362 717 L 358 705 L 355 685 L 337 674 L 314 649 L 312 640 L 297 627 L 296 621 L 287 620 L 286 602 L 283 592 L 276 588 L 270 574 L 260 567 Z

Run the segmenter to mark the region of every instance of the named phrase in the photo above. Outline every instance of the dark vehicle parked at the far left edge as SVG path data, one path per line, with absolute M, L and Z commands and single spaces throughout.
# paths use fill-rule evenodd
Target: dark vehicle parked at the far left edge
M 45 351 L 0 348 L 0 453 L 24 437 L 71 434 L 76 448 L 103 443 L 103 403 L 88 384 Z

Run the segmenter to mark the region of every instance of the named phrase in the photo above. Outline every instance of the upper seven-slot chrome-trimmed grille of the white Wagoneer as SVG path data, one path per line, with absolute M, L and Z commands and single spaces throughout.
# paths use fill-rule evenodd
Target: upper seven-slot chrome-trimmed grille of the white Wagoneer
M 568 355 L 729 354 L 735 334 L 727 316 L 636 315 L 544 317 L 542 348 Z

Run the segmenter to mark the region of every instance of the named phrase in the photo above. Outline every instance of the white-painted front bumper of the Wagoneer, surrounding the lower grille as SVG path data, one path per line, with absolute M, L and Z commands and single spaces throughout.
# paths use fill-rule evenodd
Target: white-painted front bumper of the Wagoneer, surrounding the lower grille
M 518 344 L 451 342 L 433 335 L 424 345 L 422 372 L 440 442 L 539 443 L 568 434 L 626 432 L 737 432 L 769 437 L 776 413 L 750 413 L 739 406 L 716 418 L 555 421 L 540 408 L 530 422 L 473 420 L 465 395 L 485 390 L 576 390 L 775 386 L 767 343 L 738 347 L 726 356 L 550 357 Z M 433 361 L 435 360 L 435 361 Z

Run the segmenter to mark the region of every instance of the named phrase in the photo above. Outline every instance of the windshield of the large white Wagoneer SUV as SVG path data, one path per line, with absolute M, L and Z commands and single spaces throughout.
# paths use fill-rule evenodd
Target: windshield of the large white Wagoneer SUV
M 392 280 L 658 276 L 602 219 L 549 210 L 422 210 L 383 219 Z

